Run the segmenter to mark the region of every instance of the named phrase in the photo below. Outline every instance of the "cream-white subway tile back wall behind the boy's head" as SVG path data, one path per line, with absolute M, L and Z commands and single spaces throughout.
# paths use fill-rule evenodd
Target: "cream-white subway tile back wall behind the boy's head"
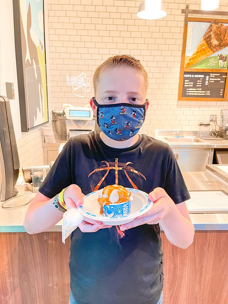
M 168 15 L 164 19 L 143 20 L 136 16 L 141 1 L 124 0 L 48 0 L 48 30 L 51 64 L 52 109 L 63 103 L 85 106 L 92 91 L 77 98 L 66 85 L 66 74 L 73 63 L 92 75 L 96 65 L 110 56 L 130 54 L 139 59 L 149 75 L 147 98 L 150 106 L 144 123 L 148 129 L 198 130 L 200 121 L 211 113 L 219 116 L 226 102 L 178 101 L 179 74 L 185 14 L 181 9 L 200 9 L 200 1 L 165 1 Z M 220 11 L 227 11 L 221 3 Z M 202 17 L 202 15 L 189 15 Z M 226 18 L 205 15 L 203 17 Z M 62 63 L 71 62 L 66 68 Z M 84 66 L 84 63 L 88 65 Z M 64 74 L 67 70 L 67 73 Z M 80 69 L 80 65 L 75 67 Z M 77 75 L 76 75 L 77 76 Z M 73 71 L 68 77 L 75 77 Z

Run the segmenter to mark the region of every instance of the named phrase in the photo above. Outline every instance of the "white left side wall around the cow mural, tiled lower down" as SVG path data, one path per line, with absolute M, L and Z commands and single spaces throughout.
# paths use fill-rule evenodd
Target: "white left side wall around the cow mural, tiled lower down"
M 15 99 L 10 100 L 12 121 L 17 140 L 20 169 L 43 164 L 41 129 L 21 132 L 17 83 L 12 0 L 0 0 L 0 94 L 6 96 L 6 82 L 14 83 Z

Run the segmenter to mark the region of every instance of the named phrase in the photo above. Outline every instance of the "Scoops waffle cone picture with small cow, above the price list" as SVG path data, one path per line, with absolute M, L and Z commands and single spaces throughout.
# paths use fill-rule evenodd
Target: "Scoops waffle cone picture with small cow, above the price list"
M 188 21 L 185 69 L 227 69 L 227 57 L 228 23 Z

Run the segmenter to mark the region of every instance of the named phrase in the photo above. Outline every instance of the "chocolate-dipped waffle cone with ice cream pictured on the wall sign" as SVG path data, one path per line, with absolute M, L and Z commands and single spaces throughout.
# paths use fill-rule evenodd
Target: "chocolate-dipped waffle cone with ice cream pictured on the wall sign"
M 188 58 L 185 68 L 198 63 L 227 46 L 228 26 L 225 26 L 223 23 L 213 19 L 193 54 Z

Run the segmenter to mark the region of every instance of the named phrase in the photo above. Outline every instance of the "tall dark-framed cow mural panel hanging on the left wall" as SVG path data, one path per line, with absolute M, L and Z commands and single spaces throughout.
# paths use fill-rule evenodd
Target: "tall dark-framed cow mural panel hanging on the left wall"
M 22 132 L 48 122 L 43 1 L 13 0 Z

